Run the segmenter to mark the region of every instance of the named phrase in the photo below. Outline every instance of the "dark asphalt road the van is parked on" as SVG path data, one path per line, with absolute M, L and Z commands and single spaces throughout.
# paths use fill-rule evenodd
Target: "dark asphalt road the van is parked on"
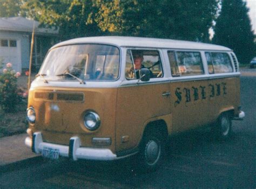
M 205 131 L 172 138 L 164 165 L 146 174 L 133 171 L 129 159 L 22 165 L 0 170 L 0 188 L 256 188 L 256 74 L 243 75 L 246 117 L 233 121 L 234 136 L 226 142 Z

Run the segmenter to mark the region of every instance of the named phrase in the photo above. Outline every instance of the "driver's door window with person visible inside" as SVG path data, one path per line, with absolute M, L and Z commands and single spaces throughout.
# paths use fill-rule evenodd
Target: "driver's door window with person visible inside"
M 139 79 L 139 70 L 150 70 L 151 78 L 163 78 L 163 67 L 160 55 L 154 50 L 127 50 L 126 53 L 126 79 Z

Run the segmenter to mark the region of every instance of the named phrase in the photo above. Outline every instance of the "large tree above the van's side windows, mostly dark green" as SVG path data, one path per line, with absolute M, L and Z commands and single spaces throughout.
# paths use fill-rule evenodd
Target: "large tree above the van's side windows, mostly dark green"
M 96 0 L 100 29 L 125 36 L 208 41 L 218 1 Z

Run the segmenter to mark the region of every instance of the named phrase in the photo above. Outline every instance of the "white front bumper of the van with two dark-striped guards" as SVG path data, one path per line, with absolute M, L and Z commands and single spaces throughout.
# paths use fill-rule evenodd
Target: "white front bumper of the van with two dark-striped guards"
M 71 137 L 69 145 L 60 145 L 43 142 L 41 132 L 35 132 L 33 137 L 26 137 L 25 144 L 33 152 L 41 154 L 44 148 L 51 148 L 59 151 L 59 156 L 69 157 L 72 160 L 92 159 L 92 160 L 114 160 L 119 159 L 110 149 L 85 148 L 80 146 L 79 137 Z

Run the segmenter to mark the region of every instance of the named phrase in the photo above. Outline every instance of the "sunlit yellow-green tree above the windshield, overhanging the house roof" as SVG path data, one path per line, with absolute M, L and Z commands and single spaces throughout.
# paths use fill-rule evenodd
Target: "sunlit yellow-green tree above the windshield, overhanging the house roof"
M 61 40 L 102 34 L 97 24 L 89 20 L 97 12 L 91 0 L 26 0 L 22 8 L 27 17 L 43 26 L 59 27 Z

